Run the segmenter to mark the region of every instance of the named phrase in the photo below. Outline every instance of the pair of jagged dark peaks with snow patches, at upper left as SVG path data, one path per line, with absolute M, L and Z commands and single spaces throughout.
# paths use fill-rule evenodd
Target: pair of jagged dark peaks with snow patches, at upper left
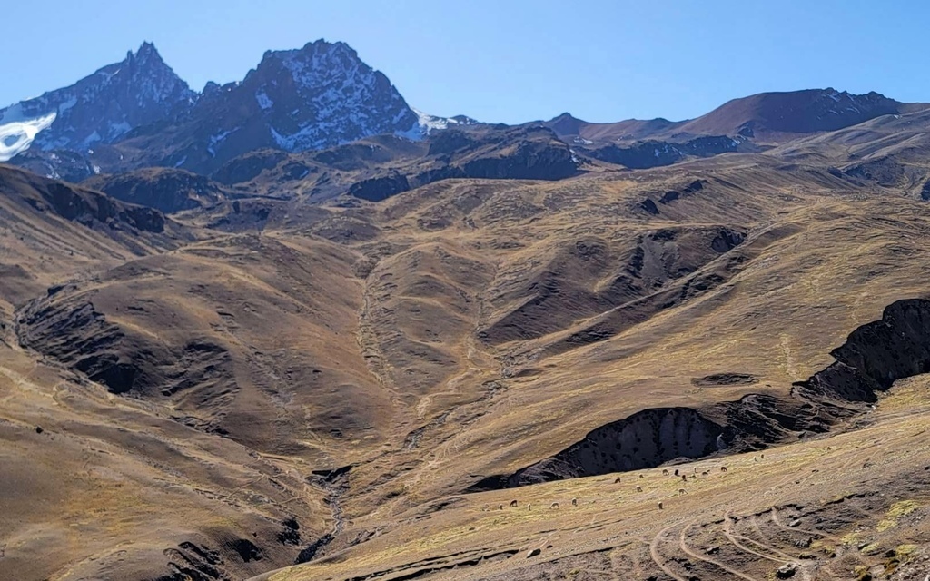
M 0 161 L 22 154 L 12 163 L 53 178 L 153 165 L 206 174 L 263 148 L 304 152 L 380 134 L 416 140 L 474 123 L 413 110 L 345 43 L 268 51 L 244 80 L 200 93 L 144 43 L 73 86 L 0 110 Z

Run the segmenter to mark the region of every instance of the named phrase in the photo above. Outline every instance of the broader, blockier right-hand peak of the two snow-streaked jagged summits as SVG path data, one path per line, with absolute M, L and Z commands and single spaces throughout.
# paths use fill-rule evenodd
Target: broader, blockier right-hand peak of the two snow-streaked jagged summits
M 266 52 L 241 83 L 207 86 L 161 165 L 213 171 L 262 148 L 303 152 L 392 133 L 419 138 L 417 113 L 350 46 L 318 40 Z

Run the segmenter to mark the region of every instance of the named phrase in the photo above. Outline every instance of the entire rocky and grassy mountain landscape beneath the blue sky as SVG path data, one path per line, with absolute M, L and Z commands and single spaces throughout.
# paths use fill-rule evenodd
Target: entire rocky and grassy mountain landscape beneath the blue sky
M 922 105 L 101 72 L 0 121 L 0 579 L 925 576 Z

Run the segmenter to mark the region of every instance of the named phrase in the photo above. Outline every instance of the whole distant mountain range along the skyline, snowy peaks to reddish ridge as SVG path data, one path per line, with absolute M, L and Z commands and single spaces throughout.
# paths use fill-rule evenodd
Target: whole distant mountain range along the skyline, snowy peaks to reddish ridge
M 257 152 L 264 160 L 261 164 L 267 164 L 272 157 L 282 159 L 268 151 L 316 152 L 380 135 L 432 143 L 437 132 L 452 130 L 471 136 L 445 139 L 438 146 L 442 149 L 460 141 L 461 147 L 454 148 L 458 160 L 467 160 L 472 152 L 483 152 L 486 157 L 491 150 L 495 155 L 515 151 L 502 144 L 515 147 L 513 139 L 519 136 L 532 135 L 550 145 L 552 139 L 561 140 L 570 153 L 547 152 L 539 158 L 558 160 L 554 171 L 541 169 L 536 153 L 528 155 L 524 149 L 518 161 L 491 173 L 507 178 L 562 178 L 573 171 L 566 165 L 567 157 L 576 165 L 584 160 L 628 168 L 670 165 L 688 157 L 760 151 L 791 139 L 926 107 L 874 92 L 851 95 L 832 88 L 809 89 L 734 99 L 686 121 L 594 124 L 564 113 L 525 124 L 532 131 L 514 132 L 507 125 L 482 124 L 462 115 L 437 117 L 413 109 L 387 76 L 365 64 L 345 43 L 318 40 L 295 50 L 268 51 L 242 81 L 223 86 L 208 83 L 200 92 L 172 71 L 155 46 L 144 43 L 123 61 L 73 86 L 0 110 L 0 162 L 8 160 L 47 177 L 72 181 L 166 167 L 225 177 L 220 181 L 229 183 L 230 176 L 244 171 L 249 179 L 255 177 L 251 174 Z M 541 136 L 539 129 L 550 131 L 550 136 Z M 425 156 L 417 163 L 419 174 L 428 172 L 436 178 L 470 175 L 460 171 L 461 162 L 455 162 L 458 169 L 448 169 L 451 158 L 437 156 L 432 146 L 417 151 Z M 350 178 L 339 174 L 334 180 L 326 174 L 323 181 L 344 190 L 352 180 L 393 176 L 395 170 L 367 164 Z M 295 174 L 292 178 L 302 177 Z M 402 182 L 391 183 L 393 190 Z

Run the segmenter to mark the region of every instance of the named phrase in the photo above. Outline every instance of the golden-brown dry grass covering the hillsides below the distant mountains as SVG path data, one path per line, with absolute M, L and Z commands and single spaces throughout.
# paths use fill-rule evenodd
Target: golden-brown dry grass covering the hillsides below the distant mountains
M 658 216 L 640 209 L 644 198 L 696 179 L 706 182 L 702 191 L 661 205 Z M 22 214 L 14 222 L 38 223 L 12 209 Z M 0 475 L 0 571 L 18 575 L 0 578 L 157 576 L 168 572 L 166 549 L 192 541 L 224 550 L 232 538 L 258 539 L 266 557 L 242 562 L 226 552 L 230 574 L 262 574 L 296 556 L 298 548 L 275 540 L 287 517 L 299 520 L 303 545 L 330 530 L 324 498 L 332 493 L 307 478 L 349 464 L 341 534 L 321 561 L 274 578 L 394 570 L 383 576 L 390 579 L 429 568 L 450 579 L 574 570 L 570 578 L 674 577 L 684 574 L 671 562 L 686 554 L 681 543 L 726 542 L 725 514 L 740 517 L 726 533 L 755 535 L 755 544 L 735 536 L 737 543 L 776 561 L 795 555 L 796 539 L 779 536 L 777 520 L 798 504 L 827 507 L 823 518 L 836 528 L 815 540 L 835 559 L 872 566 L 877 557 L 839 539 L 907 544 L 923 534 L 913 515 L 927 499 L 902 489 L 900 498 L 850 508 L 855 521 L 830 507 L 910 482 L 909 470 L 930 464 L 919 435 L 928 421 L 922 377 L 902 382 L 859 429 L 779 447 L 764 462 L 743 455 L 688 464 L 710 475 L 684 484 L 686 495 L 658 469 L 644 470 L 643 480 L 624 474 L 617 485 L 601 476 L 462 491 L 644 408 L 700 407 L 760 390 L 786 395 L 791 382 L 830 363 L 830 350 L 858 325 L 899 298 L 926 294 L 925 212 L 910 199 L 866 196 L 817 167 L 734 155 L 560 182 L 447 180 L 381 205 L 326 208 L 260 235 L 205 231 L 192 218 L 199 240 L 176 250 L 150 247 L 136 257 L 106 242 L 116 244 L 112 253 L 67 268 L 69 248 L 89 235 L 73 224 L 61 227 L 72 238 L 59 245 L 11 242 L 10 262 L 41 275 L 5 291 L 0 304 L 9 323 L 0 336 L 9 344 L 0 344 L 0 454 L 12 467 Z M 706 248 L 697 256 L 696 242 L 681 242 L 718 228 L 744 232 L 746 241 L 719 256 Z M 644 243 L 659 231 L 677 242 Z M 603 261 L 578 267 L 578 244 L 603 247 Z M 629 304 L 604 303 L 599 297 L 641 246 L 658 253 L 649 268 L 685 261 L 696 270 L 657 274 L 660 286 Z M 46 252 L 59 266 L 42 266 Z M 655 294 L 700 277 L 718 282 L 650 307 Z M 18 346 L 14 313 L 64 281 L 75 284 L 40 304 L 66 311 L 89 302 L 127 337 L 128 360 L 140 357 L 140 345 L 219 345 L 229 354 L 225 383 L 116 396 L 43 357 L 42 345 Z M 485 338 L 545 284 L 565 297 L 555 303 L 558 317 L 526 320 L 545 332 Z M 636 316 L 627 324 L 629 312 Z M 565 348 L 566 337 L 596 324 L 615 332 Z M 692 382 L 721 373 L 758 382 Z M 844 502 L 825 504 L 836 496 Z M 482 509 L 512 498 L 519 508 Z M 904 505 L 896 502 L 917 508 L 898 514 Z M 750 516 L 761 535 L 742 530 Z M 883 521 L 896 525 L 878 531 Z M 352 546 L 355 539 L 365 540 Z M 537 561 L 525 559 L 530 548 L 543 549 Z M 772 559 L 740 550 L 721 557 L 725 566 L 752 578 L 774 570 Z M 852 570 L 821 560 L 805 570 L 811 578 Z M 443 568 L 459 561 L 457 570 Z M 703 574 L 722 574 L 700 562 Z

